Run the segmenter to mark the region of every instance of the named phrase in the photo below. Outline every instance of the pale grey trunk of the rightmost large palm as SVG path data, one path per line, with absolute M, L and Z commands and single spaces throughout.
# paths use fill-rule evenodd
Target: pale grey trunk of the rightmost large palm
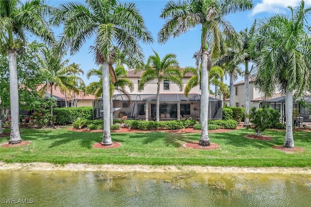
M 293 91 L 286 90 L 285 96 L 286 131 L 285 147 L 294 148 L 293 138 Z

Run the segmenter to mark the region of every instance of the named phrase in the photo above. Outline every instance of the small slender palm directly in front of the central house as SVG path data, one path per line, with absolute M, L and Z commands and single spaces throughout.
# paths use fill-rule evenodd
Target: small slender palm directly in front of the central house
M 144 67 L 144 71 L 140 76 L 140 81 L 138 85 L 139 88 L 143 88 L 149 82 L 157 80 L 156 88 L 156 121 L 160 119 L 160 84 L 164 80 L 169 80 L 175 83 L 180 91 L 183 90 L 183 78 L 179 68 L 179 64 L 176 60 L 176 55 L 168 53 L 160 59 L 158 53 L 153 50 L 155 55 L 149 56 L 147 64 Z

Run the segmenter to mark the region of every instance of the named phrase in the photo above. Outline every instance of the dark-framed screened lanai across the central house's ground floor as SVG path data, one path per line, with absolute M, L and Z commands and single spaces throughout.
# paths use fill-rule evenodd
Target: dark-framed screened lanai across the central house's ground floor
M 201 95 L 160 94 L 160 120 L 200 119 Z M 103 98 L 93 101 L 94 119 L 103 118 Z M 155 120 L 156 95 L 116 94 L 113 96 L 113 117 L 136 120 Z M 222 119 L 222 102 L 209 97 L 208 119 Z

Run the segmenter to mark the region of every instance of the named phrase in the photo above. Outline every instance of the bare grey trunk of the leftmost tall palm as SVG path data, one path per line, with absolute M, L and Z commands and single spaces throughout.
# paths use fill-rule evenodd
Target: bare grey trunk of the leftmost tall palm
M 17 60 L 16 51 L 9 49 L 9 71 L 10 71 L 10 103 L 11 103 L 11 134 L 9 143 L 20 143 L 22 140 L 18 126 L 18 83 L 17 83 Z

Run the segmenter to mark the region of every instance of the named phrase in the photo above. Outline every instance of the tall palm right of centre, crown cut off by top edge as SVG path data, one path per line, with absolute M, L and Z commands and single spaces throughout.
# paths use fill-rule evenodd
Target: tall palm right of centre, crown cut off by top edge
M 225 20 L 225 15 L 252 8 L 252 0 L 185 0 L 169 1 L 162 9 L 160 17 L 167 19 L 167 21 L 158 33 L 160 43 L 167 42 L 171 36 L 177 37 L 186 33 L 197 25 L 202 27 L 201 48 L 196 56 L 197 73 L 201 62 L 202 74 L 200 145 L 208 146 L 210 144 L 207 131 L 208 71 L 212 65 L 212 57 L 219 57 L 225 50 L 220 26 L 225 35 L 233 39 L 236 32 L 231 24 Z

